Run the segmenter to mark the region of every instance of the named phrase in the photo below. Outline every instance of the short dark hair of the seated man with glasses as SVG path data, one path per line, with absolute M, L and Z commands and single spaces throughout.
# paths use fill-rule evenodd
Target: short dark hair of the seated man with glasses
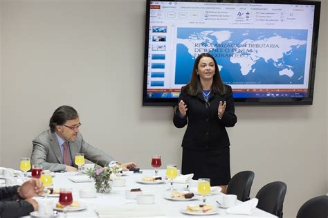
M 55 132 L 57 125 L 64 125 L 67 120 L 74 120 L 78 117 L 78 111 L 76 111 L 73 107 L 67 105 L 60 106 L 55 110 L 55 112 L 53 112 L 53 116 L 50 118 L 50 130 Z

